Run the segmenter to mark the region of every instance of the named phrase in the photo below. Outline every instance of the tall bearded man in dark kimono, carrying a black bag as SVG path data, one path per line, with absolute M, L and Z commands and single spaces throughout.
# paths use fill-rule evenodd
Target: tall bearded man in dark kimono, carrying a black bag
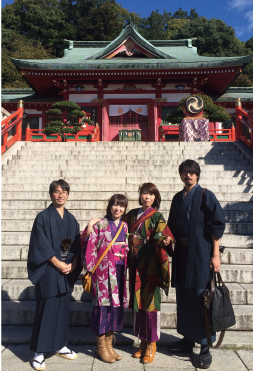
M 220 269 L 219 239 L 225 229 L 225 218 L 215 195 L 198 184 L 200 167 L 196 161 L 184 161 L 179 174 L 185 186 L 172 200 L 168 226 L 176 240 L 171 285 L 176 288 L 177 331 L 184 338 L 171 343 L 168 350 L 189 352 L 195 342 L 199 343 L 197 367 L 208 368 L 212 356 L 203 327 L 203 291 L 210 270 Z

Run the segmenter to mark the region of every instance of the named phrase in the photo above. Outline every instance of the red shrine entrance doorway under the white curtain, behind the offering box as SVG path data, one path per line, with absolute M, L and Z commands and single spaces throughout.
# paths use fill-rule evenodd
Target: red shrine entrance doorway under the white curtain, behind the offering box
M 121 129 L 141 129 L 141 140 L 148 141 L 148 115 L 140 115 L 131 109 L 118 116 L 109 116 L 110 141 L 119 140 Z

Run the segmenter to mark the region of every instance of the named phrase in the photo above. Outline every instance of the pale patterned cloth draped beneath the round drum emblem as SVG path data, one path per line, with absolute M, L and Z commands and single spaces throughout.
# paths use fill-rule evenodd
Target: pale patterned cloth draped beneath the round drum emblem
M 209 120 L 208 119 L 183 119 L 179 125 L 179 141 L 181 142 L 208 142 Z

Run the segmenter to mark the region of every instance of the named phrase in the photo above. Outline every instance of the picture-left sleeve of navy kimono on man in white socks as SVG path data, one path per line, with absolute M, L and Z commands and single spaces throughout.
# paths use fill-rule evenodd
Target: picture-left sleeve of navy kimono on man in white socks
M 44 218 L 38 215 L 31 231 L 27 270 L 28 277 L 35 285 L 44 274 L 48 259 L 55 255 L 50 239 L 50 229 Z

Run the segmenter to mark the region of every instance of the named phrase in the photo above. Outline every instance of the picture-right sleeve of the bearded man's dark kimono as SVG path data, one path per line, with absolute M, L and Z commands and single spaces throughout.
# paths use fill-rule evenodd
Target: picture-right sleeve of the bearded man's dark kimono
M 209 190 L 203 193 L 202 209 L 207 232 L 221 238 L 225 230 L 225 217 L 219 201 Z

